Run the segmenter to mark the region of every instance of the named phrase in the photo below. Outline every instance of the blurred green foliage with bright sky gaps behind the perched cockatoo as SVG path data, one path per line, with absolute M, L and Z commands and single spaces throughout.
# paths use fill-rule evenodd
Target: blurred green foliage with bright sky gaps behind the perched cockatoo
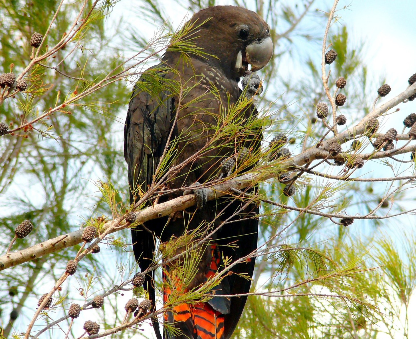
M 0 0 L 1 72 L 10 72 L 10 64 L 14 64 L 12 71 L 15 74 L 25 68 L 29 62 L 32 33 L 46 32 L 58 4 L 56 0 Z M 188 9 L 190 13 L 215 4 L 213 0 L 169 2 L 170 6 Z M 288 3 L 235 0 L 231 4 L 257 11 L 271 26 L 275 55 L 262 70 L 267 91 L 261 101 L 261 114 L 272 114 L 275 124 L 265 131 L 265 139 L 270 140 L 273 131 L 285 131 L 290 136 L 290 150 L 299 153 L 316 143 L 325 131 L 322 122 L 315 117 L 315 107 L 319 101 L 327 101 L 322 87 L 320 55 L 326 12 L 332 4 L 328 3 L 320 11 L 313 7 L 314 1 L 305 0 Z M 87 7 L 90 5 L 91 2 Z M 47 37 L 49 45 L 60 40 L 80 3 L 67 1 L 62 6 Z M 33 69 L 27 76 L 32 86 L 31 94 L 18 93 L 14 99 L 7 99 L 0 106 L 1 121 L 16 127 L 22 119 L 29 119 L 37 111 L 47 111 L 55 106 L 57 97 L 71 95 L 82 89 L 86 82 L 96 81 L 141 48 L 147 50 L 138 59 L 151 53 L 153 49 L 147 42 L 155 29 L 168 32 L 178 26 L 178 22 L 171 21 L 174 15 L 168 11 L 166 3 L 157 0 L 134 1 L 138 23 L 135 27 L 124 22 L 123 10 L 117 10 L 118 6 L 123 7 L 123 2 L 107 0 L 100 6 L 99 15 L 90 22 L 88 30 L 83 31 L 80 46 L 59 65 L 60 72 L 45 67 Z M 333 90 L 334 82 L 340 76 L 347 79 L 347 87 L 343 90 L 347 104 L 342 107 L 342 113 L 348 117 L 347 126 L 351 126 L 353 121 L 368 113 L 382 79 L 367 79 L 366 65 L 360 58 L 364 43 L 349 40 L 345 23 L 332 25 L 328 42 L 338 53 L 330 67 L 329 86 Z M 57 53 L 57 59 L 71 48 L 65 46 Z M 53 60 L 45 64 L 48 62 L 53 64 Z M 156 63 L 156 58 L 149 60 L 148 65 L 152 63 Z M 290 76 L 287 69 L 297 76 Z M 411 72 L 410 69 L 409 74 Z M 136 79 L 132 76 L 131 83 Z M 128 192 L 122 130 L 131 83 L 114 82 L 94 92 L 71 106 L 70 115 L 52 114 L 45 123 L 36 125 L 36 130 L 27 133 L 27 138 L 10 135 L 0 138 L 2 252 L 5 252 L 16 225 L 25 219 L 33 223 L 35 230 L 27 238 L 17 240 L 12 250 L 76 230 L 94 216 L 111 218 L 111 211 L 101 203 L 102 196 L 94 182 L 108 181 L 117 192 Z M 368 145 L 367 141 L 363 147 Z M 374 168 L 379 168 L 381 163 L 374 161 Z M 330 166 L 323 164 L 319 170 L 325 172 L 328 168 Z M 341 169 L 339 167 L 337 171 Z M 368 168 L 356 173 L 357 176 L 374 175 L 368 174 Z M 334 183 L 308 175 L 299 182 L 297 194 L 291 199 L 281 194 L 280 183 L 264 184 L 260 193 L 299 207 L 312 201 L 318 201 L 322 206 L 334 205 L 334 209 L 340 210 L 348 206 L 349 214 L 368 213 L 386 193 L 386 183 Z M 409 196 L 397 193 L 394 199 L 391 212 L 403 210 L 401 200 L 409 199 Z M 126 203 L 124 194 L 117 193 L 116 201 Z M 387 203 L 382 207 L 381 213 L 385 213 L 390 205 Z M 397 244 L 390 239 L 388 228 L 384 233 L 379 231 L 381 222 L 362 221 L 360 225 L 364 231 L 360 232 L 359 228 L 344 228 L 326 218 L 309 214 L 297 216 L 267 204 L 262 205 L 262 213 L 259 243 L 268 242 L 268 246 L 277 249 L 289 246 L 285 247 L 288 254 L 287 257 L 264 255 L 258 259 L 253 291 L 259 295 L 248 298 L 234 337 L 408 337 L 407 310 L 416 284 L 414 235 L 404 234 L 403 239 L 407 240 Z M 293 225 L 281 233 L 283 225 L 294 220 Z M 270 240 L 270 236 L 275 237 Z M 137 270 L 130 247 L 125 246 L 129 244 L 129 231 L 114 237 L 109 239 L 109 244 L 117 243 L 118 246 L 102 245 L 99 255 L 89 256 L 80 263 L 77 274 L 54 297 L 57 303 L 51 317 L 59 317 L 62 312 L 67 312 L 71 302 L 90 299 L 94 293 L 119 282 L 121 275 L 126 278 L 131 270 Z M 296 247 L 322 251 L 330 260 L 317 269 L 317 258 L 290 250 Z M 74 246 L 0 273 L 1 326 L 5 337 L 25 330 L 37 299 L 52 287 L 67 260 L 72 259 L 78 249 Z M 322 277 L 325 270 L 336 272 L 354 267 L 363 272 L 313 281 L 314 277 Z M 378 268 L 369 270 L 372 267 Z M 92 282 L 88 283 L 89 278 L 84 274 L 94 276 Z M 293 287 L 305 281 L 307 283 Z M 84 295 L 80 295 L 79 288 L 84 288 Z M 281 292 L 274 297 L 260 295 L 270 291 Z M 356 299 L 330 297 L 334 294 Z M 124 301 L 123 296 L 115 294 L 106 299 L 104 308 L 98 313 L 90 314 L 95 315 L 102 329 L 114 327 L 123 316 Z M 378 308 L 373 309 L 372 305 Z M 72 329 L 77 331 L 77 327 Z M 53 337 L 53 332 L 45 335 Z M 117 338 L 140 336 L 152 337 L 151 328 L 146 327 L 145 331 L 129 329 L 112 335 Z

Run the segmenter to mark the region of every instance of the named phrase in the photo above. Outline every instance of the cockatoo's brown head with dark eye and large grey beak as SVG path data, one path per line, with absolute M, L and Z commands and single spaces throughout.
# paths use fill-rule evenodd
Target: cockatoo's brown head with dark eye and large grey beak
M 252 72 L 262 69 L 272 57 L 269 26 L 251 10 L 208 7 L 194 14 L 188 25 L 195 28 L 187 38 L 206 53 L 197 57 L 222 70 L 230 79 L 243 76 L 249 64 Z

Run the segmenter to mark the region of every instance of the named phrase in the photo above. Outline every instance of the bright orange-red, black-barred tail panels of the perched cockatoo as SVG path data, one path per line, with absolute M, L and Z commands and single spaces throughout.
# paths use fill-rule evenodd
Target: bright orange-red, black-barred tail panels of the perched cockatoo
M 206 278 L 217 272 L 220 262 L 217 247 L 210 246 L 211 262 Z M 163 281 L 169 278 L 168 274 L 168 268 L 163 270 Z M 165 285 L 163 303 L 166 303 L 170 294 L 171 289 Z M 224 314 L 213 309 L 208 302 L 174 306 L 164 314 L 164 321 L 173 327 L 171 330 L 166 330 L 165 327 L 164 338 L 167 339 L 224 339 Z

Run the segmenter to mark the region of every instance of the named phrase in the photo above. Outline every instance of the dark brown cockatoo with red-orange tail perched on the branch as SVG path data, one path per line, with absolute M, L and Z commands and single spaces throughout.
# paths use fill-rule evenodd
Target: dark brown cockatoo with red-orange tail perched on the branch
M 174 147 L 174 152 L 167 153 L 175 156 L 171 156 L 163 171 L 166 172 L 169 166 L 176 166 L 177 170 L 166 177 L 163 183 L 165 191 L 159 190 L 162 192 L 159 203 L 182 195 L 179 188 L 212 180 L 225 159 L 238 161 L 242 150 L 255 152 L 260 147 L 261 127 L 246 133 L 245 138 L 239 136 L 232 141 L 218 138 L 214 145 L 208 148 L 206 145 L 212 140 L 218 121 L 230 107 L 241 101 L 240 96 L 245 95 L 238 87 L 240 78 L 261 69 L 272 57 L 273 44 L 267 23 L 255 12 L 242 7 L 214 6 L 194 14 L 184 27 L 188 27 L 188 31 L 182 31 L 184 36 L 181 37 L 186 42 L 184 46 L 188 44 L 186 52 L 178 47 L 168 48 L 161 63 L 142 74 L 129 102 L 124 127 L 124 157 L 128 164 L 132 204 L 137 203 L 143 192 L 151 187 L 161 156 L 166 153 L 165 148 Z M 156 92 L 155 84 L 160 84 Z M 175 84 L 178 87 L 182 84 L 181 96 L 177 88 L 172 88 Z M 253 101 L 246 102 L 247 107 L 234 116 L 241 129 L 249 122 L 250 126 L 258 126 L 253 124 L 257 114 Z M 187 161 L 201 150 L 201 156 Z M 161 178 L 163 173 L 159 170 L 157 176 Z M 164 243 L 197 228 L 202 228 L 204 234 L 217 229 L 205 244 L 198 247 L 200 255 L 196 273 L 187 286 L 181 286 L 184 291 L 198 288 L 223 269 L 224 258 L 235 261 L 257 247 L 257 204 L 243 205 L 241 201 L 230 202 L 230 198 L 206 202 L 204 188 L 194 187 L 198 208 L 169 218 L 150 220 L 144 223 L 144 227 L 138 225 L 131 231 L 134 255 L 143 272 L 154 263 L 156 239 Z M 151 203 L 155 200 L 149 198 Z M 224 221 L 227 223 L 221 227 Z M 176 330 L 165 330 L 164 337 L 230 338 L 247 297 L 221 295 L 248 293 L 251 282 L 247 277 L 253 276 L 254 263 L 253 258 L 235 265 L 232 273 L 213 287 L 213 297 L 208 301 L 181 304 L 166 312 L 164 321 Z M 163 279 L 168 279 L 169 265 L 163 272 Z M 149 291 L 154 304 L 153 270 L 146 275 L 144 288 Z M 166 302 L 171 291 L 163 288 L 163 284 L 162 290 Z M 155 321 L 154 327 L 156 336 L 161 338 Z

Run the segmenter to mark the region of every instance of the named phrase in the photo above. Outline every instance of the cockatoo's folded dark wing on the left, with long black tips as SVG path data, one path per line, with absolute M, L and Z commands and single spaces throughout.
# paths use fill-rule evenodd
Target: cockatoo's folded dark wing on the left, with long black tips
M 157 66 L 156 66 L 157 67 Z M 128 165 L 130 203 L 138 200 L 138 190 L 147 190 L 153 181 L 154 171 L 166 146 L 171 129 L 171 114 L 173 99 L 170 92 L 163 87 L 165 73 L 149 69 L 135 84 L 126 124 L 124 125 L 124 158 Z M 155 77 L 159 80 L 160 90 L 155 89 Z M 159 77 L 160 79 L 158 79 Z M 155 227 L 152 227 L 155 226 Z M 146 228 L 153 234 L 141 228 L 131 230 L 133 252 L 141 271 L 147 270 L 153 263 L 155 240 L 158 236 L 158 223 L 146 223 Z M 146 275 L 144 288 L 149 292 L 149 298 L 155 306 L 154 271 Z M 156 337 L 161 339 L 159 324 L 152 319 Z

